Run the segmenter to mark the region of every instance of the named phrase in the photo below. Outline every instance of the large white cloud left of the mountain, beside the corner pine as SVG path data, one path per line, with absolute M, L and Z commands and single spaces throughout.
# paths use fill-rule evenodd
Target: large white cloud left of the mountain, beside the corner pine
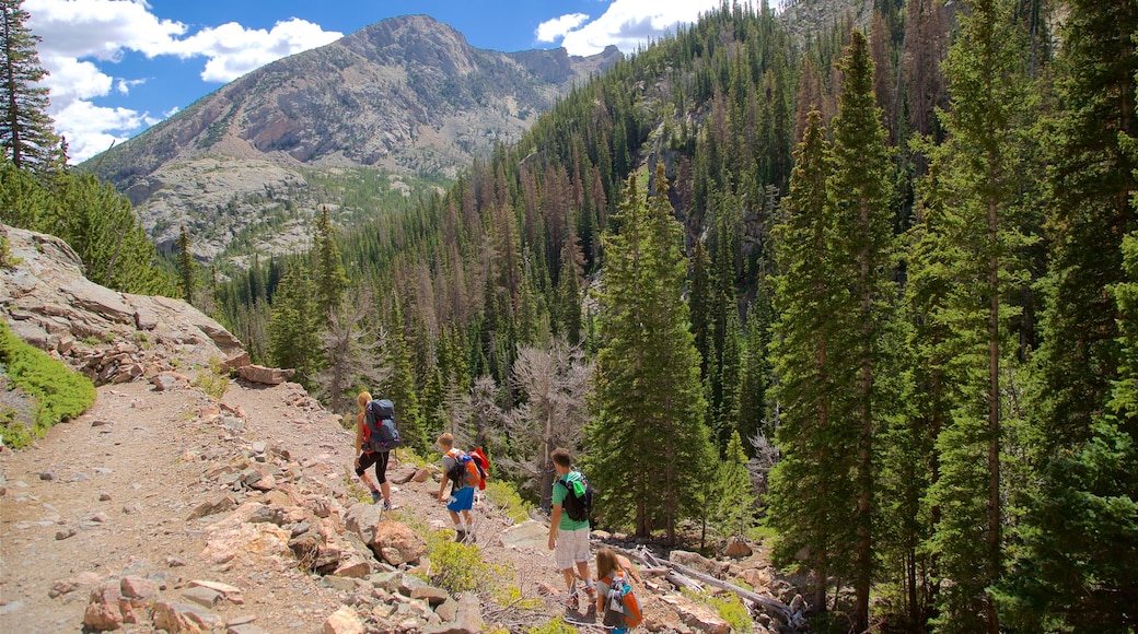
M 269 31 L 228 23 L 185 36 L 184 24 L 154 15 L 146 0 L 26 0 L 24 9 L 28 28 L 42 37 L 38 50 L 49 73 L 43 81 L 51 91 L 49 114 L 57 131 L 67 136 L 76 162 L 106 150 L 112 140 L 124 140 L 160 120 L 148 112 L 90 102 L 112 89 L 125 93 L 146 81 L 107 74 L 106 65 L 129 51 L 148 58 L 203 57 L 201 80 L 224 83 L 341 36 L 297 18 L 278 22 Z

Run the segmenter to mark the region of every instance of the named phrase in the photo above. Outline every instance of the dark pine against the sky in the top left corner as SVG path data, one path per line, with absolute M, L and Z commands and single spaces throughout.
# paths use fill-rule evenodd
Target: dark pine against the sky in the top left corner
M 41 172 L 57 162 L 59 137 L 48 116 L 47 70 L 40 66 L 39 35 L 27 28 L 24 0 L 0 0 L 0 147 L 20 169 Z

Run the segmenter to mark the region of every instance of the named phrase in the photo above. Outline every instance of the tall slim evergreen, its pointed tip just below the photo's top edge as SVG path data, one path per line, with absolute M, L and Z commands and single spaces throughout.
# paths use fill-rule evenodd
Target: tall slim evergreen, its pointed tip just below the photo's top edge
M 869 590 L 876 565 L 873 534 L 877 508 L 876 437 L 888 429 L 900 402 L 898 348 L 901 329 L 897 298 L 896 241 L 890 158 L 885 147 L 881 109 L 874 105 L 873 61 L 864 34 L 855 31 L 839 64 L 842 89 L 838 98 L 834 131 L 833 172 L 826 182 L 827 199 L 834 207 L 832 257 L 852 269 L 849 287 L 853 310 L 844 315 L 844 336 L 855 341 L 855 375 L 842 376 L 855 400 L 849 419 L 841 425 L 856 428 L 856 441 L 846 449 L 856 452 L 852 470 L 857 510 L 857 539 L 852 581 L 857 597 L 853 625 L 859 632 L 869 625 Z

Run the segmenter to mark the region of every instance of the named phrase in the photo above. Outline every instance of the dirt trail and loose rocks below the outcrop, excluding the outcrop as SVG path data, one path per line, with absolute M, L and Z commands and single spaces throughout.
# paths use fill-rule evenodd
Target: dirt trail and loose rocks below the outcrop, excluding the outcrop
M 467 603 L 417 590 L 426 584 L 407 573 L 426 558 L 372 554 L 389 518 L 354 498 L 353 436 L 337 416 L 295 384 L 232 381 L 218 401 L 162 376 L 160 387 L 104 385 L 79 419 L 0 453 L 0 631 L 467 632 L 479 620 L 523 631 L 564 614 L 543 524 L 481 504 L 479 553 L 497 565 L 500 587 Z M 389 469 L 399 481 L 435 472 Z M 395 485 L 397 522 L 385 525 L 446 527 L 434 477 Z M 298 550 L 298 535 L 319 535 L 320 548 Z M 773 582 L 759 560 L 732 566 Z M 714 612 L 669 599 L 668 584 L 648 583 L 651 629 L 726 632 Z M 506 586 L 531 600 L 525 609 L 495 600 Z

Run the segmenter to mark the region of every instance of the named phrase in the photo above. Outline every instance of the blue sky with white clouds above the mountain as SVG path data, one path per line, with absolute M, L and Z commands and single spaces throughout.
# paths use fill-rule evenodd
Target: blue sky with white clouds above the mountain
M 73 162 L 228 82 L 385 18 L 427 14 L 480 49 L 633 52 L 720 0 L 24 0 Z M 777 2 L 772 1 L 772 6 Z

